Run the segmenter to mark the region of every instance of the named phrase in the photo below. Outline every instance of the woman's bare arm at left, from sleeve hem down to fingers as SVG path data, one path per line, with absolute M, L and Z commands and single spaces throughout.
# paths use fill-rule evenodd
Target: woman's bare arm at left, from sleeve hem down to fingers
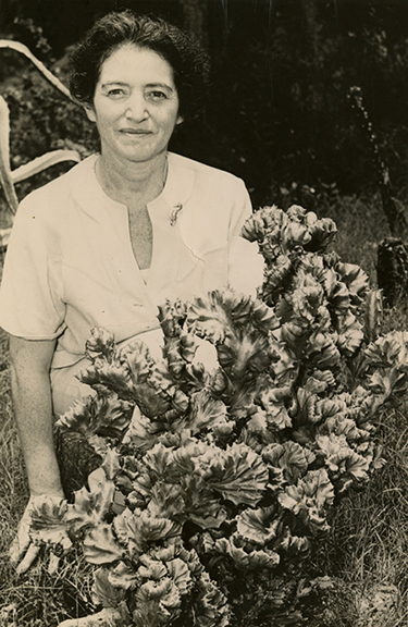
M 35 500 L 44 495 L 64 499 L 53 443 L 50 365 L 54 349 L 54 340 L 29 341 L 10 335 L 13 406 L 30 490 L 30 500 L 10 549 L 11 562 L 20 563 L 18 573 L 29 568 L 39 551 L 30 545 L 29 538 Z

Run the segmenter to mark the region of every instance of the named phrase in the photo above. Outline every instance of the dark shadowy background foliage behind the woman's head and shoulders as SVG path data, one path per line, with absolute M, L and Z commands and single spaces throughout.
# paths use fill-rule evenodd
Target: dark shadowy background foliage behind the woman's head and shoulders
M 347 102 L 353 85 L 362 88 L 394 186 L 405 192 L 406 2 L 3 0 L 2 36 L 28 45 L 64 78 L 66 49 L 96 17 L 125 7 L 170 19 L 209 49 L 213 89 L 206 120 L 181 130 L 173 148 L 244 177 L 255 205 L 279 200 L 276 193 L 293 192 L 293 183 L 297 193 L 311 190 L 310 201 L 334 184 L 348 194 L 375 189 L 370 148 Z M 15 53 L 1 57 L 1 90 L 10 93 L 14 124 L 23 131 L 13 133 L 13 163 L 58 140 L 89 145 L 81 112 L 27 75 Z M 40 113 L 39 101 L 47 102 Z

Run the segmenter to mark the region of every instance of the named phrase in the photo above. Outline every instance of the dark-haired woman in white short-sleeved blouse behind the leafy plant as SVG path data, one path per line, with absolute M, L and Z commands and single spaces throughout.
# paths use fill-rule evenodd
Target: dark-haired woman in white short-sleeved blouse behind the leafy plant
M 168 153 L 175 127 L 197 112 L 207 61 L 163 21 L 129 11 L 100 20 L 72 58 L 71 91 L 101 143 L 69 173 L 23 200 L 4 267 L 0 324 L 10 334 L 14 410 L 30 501 L 13 544 L 29 545 L 36 497 L 64 497 L 54 415 L 89 392 L 95 325 L 154 351 L 157 307 L 231 285 L 255 291 L 261 259 L 239 237 L 248 194 L 231 174 Z M 37 549 L 20 564 L 26 569 Z

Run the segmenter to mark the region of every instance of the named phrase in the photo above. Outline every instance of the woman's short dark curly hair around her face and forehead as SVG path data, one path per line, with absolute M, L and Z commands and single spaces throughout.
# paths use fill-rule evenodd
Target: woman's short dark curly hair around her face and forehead
M 131 10 L 108 13 L 85 35 L 71 53 L 70 89 L 85 106 L 94 102 L 103 62 L 122 46 L 149 48 L 173 69 L 183 120 L 196 118 L 209 86 L 209 58 L 186 33 L 159 17 Z

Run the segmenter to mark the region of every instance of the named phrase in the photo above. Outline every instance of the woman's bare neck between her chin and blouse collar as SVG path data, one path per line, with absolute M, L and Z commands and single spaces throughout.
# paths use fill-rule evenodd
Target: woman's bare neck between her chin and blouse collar
M 146 206 L 157 198 L 168 175 L 168 153 L 143 162 L 122 162 L 102 152 L 96 162 L 97 179 L 103 192 L 127 207 Z

